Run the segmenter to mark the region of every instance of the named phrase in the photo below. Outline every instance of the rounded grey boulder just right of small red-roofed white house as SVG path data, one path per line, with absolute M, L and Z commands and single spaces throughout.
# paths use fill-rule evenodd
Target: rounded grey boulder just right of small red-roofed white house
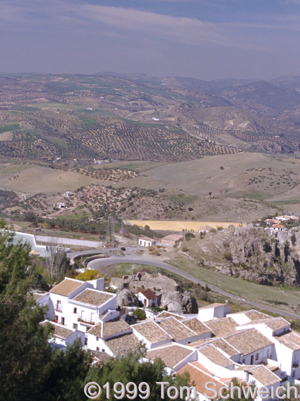
M 161 294 L 160 307 L 174 313 L 198 313 L 195 298 L 187 291 L 170 291 Z

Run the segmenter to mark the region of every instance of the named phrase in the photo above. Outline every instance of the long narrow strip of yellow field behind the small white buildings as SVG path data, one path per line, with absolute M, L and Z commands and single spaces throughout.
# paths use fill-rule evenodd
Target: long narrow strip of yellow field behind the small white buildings
M 151 230 L 163 231 L 193 231 L 197 233 L 200 230 L 217 229 L 217 227 L 227 228 L 228 226 L 245 227 L 245 223 L 234 222 L 196 222 L 196 221 L 180 221 L 180 220 L 124 220 L 125 224 L 139 227 L 149 226 Z

